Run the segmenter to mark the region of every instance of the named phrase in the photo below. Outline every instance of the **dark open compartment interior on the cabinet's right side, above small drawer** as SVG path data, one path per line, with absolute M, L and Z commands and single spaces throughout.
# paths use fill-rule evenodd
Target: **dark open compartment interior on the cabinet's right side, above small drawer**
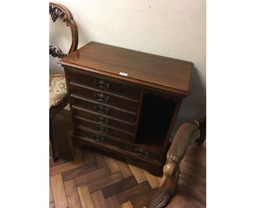
M 145 94 L 135 143 L 161 151 L 175 108 L 176 102 L 171 99 Z

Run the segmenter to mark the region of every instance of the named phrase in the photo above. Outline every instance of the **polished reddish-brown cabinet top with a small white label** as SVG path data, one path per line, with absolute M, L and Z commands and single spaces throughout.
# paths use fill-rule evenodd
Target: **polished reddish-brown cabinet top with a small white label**
M 89 42 L 58 63 L 182 96 L 190 95 L 194 64 Z

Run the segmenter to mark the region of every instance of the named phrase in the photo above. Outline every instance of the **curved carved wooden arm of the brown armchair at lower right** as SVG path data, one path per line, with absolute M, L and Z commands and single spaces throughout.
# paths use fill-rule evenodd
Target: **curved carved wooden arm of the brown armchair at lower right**
M 148 208 L 160 208 L 168 204 L 181 177 L 179 162 L 182 161 L 191 142 L 191 138 L 198 129 L 200 129 L 200 138 L 196 140 L 196 143 L 201 145 L 205 139 L 205 128 L 206 118 L 191 121 L 179 127 L 172 145 L 167 152 L 167 160 L 163 169 L 164 175 L 160 182 L 159 190 L 150 201 Z

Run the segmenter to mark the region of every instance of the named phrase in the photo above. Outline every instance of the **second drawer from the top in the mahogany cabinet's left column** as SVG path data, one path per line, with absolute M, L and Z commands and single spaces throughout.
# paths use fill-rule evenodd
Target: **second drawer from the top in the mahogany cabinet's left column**
M 138 101 L 125 99 L 118 95 L 105 93 L 101 90 L 86 87 L 77 83 L 69 83 L 70 94 L 77 94 L 87 97 L 90 100 L 113 105 L 131 112 L 137 112 Z

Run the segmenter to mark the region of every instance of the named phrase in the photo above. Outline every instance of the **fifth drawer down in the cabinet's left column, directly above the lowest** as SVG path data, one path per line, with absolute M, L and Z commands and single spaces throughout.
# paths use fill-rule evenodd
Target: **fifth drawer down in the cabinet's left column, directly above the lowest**
M 124 131 L 120 131 L 118 129 L 114 129 L 112 127 L 109 127 L 107 125 L 104 124 L 99 124 L 99 123 L 95 123 L 95 122 L 91 122 L 89 120 L 85 120 L 83 118 L 78 118 L 78 117 L 74 117 L 74 124 L 77 126 L 83 126 L 86 127 L 87 129 L 91 129 L 103 134 L 107 134 L 113 137 L 118 137 L 119 139 L 123 139 L 126 140 L 128 142 L 132 142 L 133 141 L 133 134 L 132 133 L 128 133 L 128 132 L 124 132 Z

